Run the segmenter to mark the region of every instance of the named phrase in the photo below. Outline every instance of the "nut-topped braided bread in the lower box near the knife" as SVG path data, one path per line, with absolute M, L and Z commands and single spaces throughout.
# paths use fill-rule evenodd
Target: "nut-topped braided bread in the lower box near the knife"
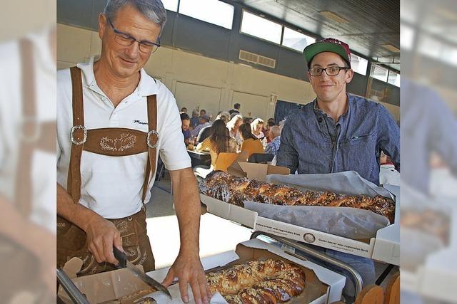
M 206 274 L 211 293 L 219 291 L 230 304 L 276 304 L 291 300 L 305 288 L 305 273 L 289 263 L 248 261 Z

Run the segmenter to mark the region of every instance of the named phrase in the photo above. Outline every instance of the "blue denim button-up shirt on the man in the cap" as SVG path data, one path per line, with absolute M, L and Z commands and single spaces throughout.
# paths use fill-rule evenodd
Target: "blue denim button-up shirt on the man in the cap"
M 317 100 L 287 117 L 276 154 L 278 166 L 298 174 L 353 170 L 379 184 L 381 151 L 400 168 L 400 128 L 383 105 L 348 95 L 348 111 L 337 122 Z

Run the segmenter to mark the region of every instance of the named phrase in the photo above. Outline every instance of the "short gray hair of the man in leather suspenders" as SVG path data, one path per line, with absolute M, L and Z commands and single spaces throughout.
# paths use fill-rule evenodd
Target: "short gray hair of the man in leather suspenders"
M 103 14 L 114 21 L 117 12 L 124 6 L 130 4 L 143 14 L 147 19 L 158 24 L 161 29 L 164 28 L 166 22 L 166 10 L 161 0 L 108 0 Z

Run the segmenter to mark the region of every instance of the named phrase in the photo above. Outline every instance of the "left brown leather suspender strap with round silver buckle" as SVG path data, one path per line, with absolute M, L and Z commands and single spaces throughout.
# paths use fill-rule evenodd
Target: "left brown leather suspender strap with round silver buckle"
M 76 66 L 70 68 L 71 87 L 73 92 L 73 127 L 71 128 L 71 154 L 69 175 L 66 189 L 75 203 L 81 197 L 81 154 L 84 142 L 87 139 L 87 130 L 84 127 L 83 86 L 81 70 Z

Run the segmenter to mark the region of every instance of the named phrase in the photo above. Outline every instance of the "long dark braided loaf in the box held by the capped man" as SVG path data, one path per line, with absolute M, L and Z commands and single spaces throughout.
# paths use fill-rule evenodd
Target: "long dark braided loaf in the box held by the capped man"
M 222 171 L 211 172 L 199 183 L 202 194 L 229 204 L 243 206 L 243 201 L 294 206 L 352 207 L 386 216 L 393 223 L 395 203 L 383 196 L 347 195 L 335 192 L 306 191 L 281 184 L 234 177 Z

